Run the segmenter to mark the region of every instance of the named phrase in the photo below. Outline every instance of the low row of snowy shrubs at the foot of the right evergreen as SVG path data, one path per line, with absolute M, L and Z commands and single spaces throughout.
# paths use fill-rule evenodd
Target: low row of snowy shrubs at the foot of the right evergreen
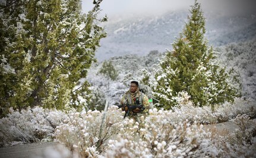
M 248 114 L 250 117 L 256 115 L 256 103 L 252 99 L 235 98 L 233 103 L 225 102 L 212 111 L 211 106 L 194 107 L 191 102 L 187 101 L 187 95 L 185 96 L 185 99 L 177 99 L 183 104 L 172 109 L 173 114 L 170 116 L 172 122 L 188 120 L 189 122 L 197 121 L 201 124 L 214 124 L 228 121 L 239 114 Z

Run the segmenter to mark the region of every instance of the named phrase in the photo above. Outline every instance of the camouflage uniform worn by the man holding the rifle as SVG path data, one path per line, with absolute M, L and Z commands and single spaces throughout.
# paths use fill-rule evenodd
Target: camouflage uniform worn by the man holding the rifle
M 144 105 L 145 109 L 143 112 L 129 112 L 129 118 L 133 118 L 135 121 L 137 122 L 141 122 L 140 121 L 140 117 L 142 115 L 147 115 L 148 114 L 148 109 L 150 109 L 150 105 L 148 102 L 148 98 L 146 95 L 144 95 L 144 93 L 140 92 L 139 89 L 137 89 L 136 92 L 131 93 L 130 91 L 125 92 L 124 96 L 122 96 L 121 99 L 121 105 L 137 105 L 136 104 L 136 99 L 138 99 L 140 101 L 140 104 Z

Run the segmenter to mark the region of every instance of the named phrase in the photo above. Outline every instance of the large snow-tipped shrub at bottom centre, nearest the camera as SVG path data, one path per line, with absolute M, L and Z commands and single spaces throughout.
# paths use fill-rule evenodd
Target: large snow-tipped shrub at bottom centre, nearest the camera
M 118 133 L 116 140 L 109 140 L 106 157 L 204 157 L 218 153 L 211 146 L 210 133 L 203 125 L 187 121 L 170 124 L 170 111 L 150 110 L 137 134 Z M 138 127 L 135 123 L 134 127 Z M 135 130 L 135 129 L 134 129 Z

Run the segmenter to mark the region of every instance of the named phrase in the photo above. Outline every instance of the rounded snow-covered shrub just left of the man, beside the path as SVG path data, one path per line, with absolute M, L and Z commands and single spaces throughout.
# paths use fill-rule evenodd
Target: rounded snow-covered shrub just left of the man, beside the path
M 82 157 L 96 156 L 105 147 L 105 141 L 115 133 L 122 131 L 121 124 L 123 115 L 121 109 L 112 106 L 106 115 L 103 124 L 102 135 L 100 135 L 100 125 L 102 123 L 103 112 L 83 111 L 73 112 L 56 127 L 56 140 L 65 144 L 71 151 L 78 151 Z

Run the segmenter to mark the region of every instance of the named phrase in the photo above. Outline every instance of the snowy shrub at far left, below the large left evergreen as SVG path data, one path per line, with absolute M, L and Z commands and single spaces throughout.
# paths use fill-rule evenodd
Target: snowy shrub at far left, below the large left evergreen
M 65 117 L 67 116 L 64 112 L 55 109 L 10 109 L 10 114 L 0 120 L 0 145 L 4 146 L 11 141 L 31 143 L 52 140 L 55 127 Z

